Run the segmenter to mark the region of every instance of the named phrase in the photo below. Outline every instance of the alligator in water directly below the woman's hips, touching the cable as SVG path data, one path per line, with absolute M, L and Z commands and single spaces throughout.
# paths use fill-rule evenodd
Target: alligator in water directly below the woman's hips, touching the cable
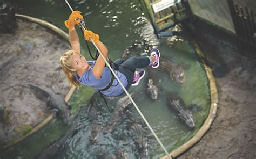
M 133 96 L 133 93 L 130 94 Z M 117 101 L 117 106 L 115 107 L 114 111 L 111 114 L 109 121 L 107 122 L 106 127 L 104 128 L 103 133 L 107 134 L 113 131 L 113 129 L 122 122 L 123 114 L 127 111 L 128 106 L 131 105 L 132 102 L 130 98 L 126 95 L 120 98 Z

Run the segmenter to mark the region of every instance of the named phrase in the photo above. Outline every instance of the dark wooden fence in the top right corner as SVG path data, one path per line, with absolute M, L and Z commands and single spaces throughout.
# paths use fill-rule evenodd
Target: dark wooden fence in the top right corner
M 241 6 L 233 0 L 227 0 L 237 35 L 240 53 L 256 59 L 256 20 L 248 6 Z

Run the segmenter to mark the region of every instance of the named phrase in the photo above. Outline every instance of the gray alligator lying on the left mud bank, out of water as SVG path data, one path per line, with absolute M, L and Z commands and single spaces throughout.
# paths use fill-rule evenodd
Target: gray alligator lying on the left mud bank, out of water
M 28 86 L 35 90 L 35 95 L 38 99 L 48 100 L 48 106 L 56 108 L 58 111 L 60 111 L 60 116 L 62 117 L 65 124 L 70 124 L 70 110 L 65 103 L 64 95 L 54 93 L 52 90 L 44 88 L 43 86 L 37 86 L 33 84 L 28 84 Z

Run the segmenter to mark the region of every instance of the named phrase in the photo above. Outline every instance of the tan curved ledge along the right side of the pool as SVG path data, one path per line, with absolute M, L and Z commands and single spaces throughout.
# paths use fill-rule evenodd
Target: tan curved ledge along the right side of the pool
M 196 41 L 190 40 L 191 44 L 193 45 L 194 49 L 196 50 L 196 53 L 198 56 L 204 57 L 204 54 L 201 52 L 200 48 L 198 47 Z M 215 83 L 215 78 L 212 74 L 212 70 L 210 67 L 208 67 L 204 61 L 201 61 L 203 63 L 203 66 L 206 71 L 206 75 L 208 77 L 209 86 L 210 86 L 210 93 L 211 93 L 211 107 L 210 112 L 208 114 L 208 117 L 206 118 L 203 126 L 199 129 L 199 131 L 196 133 L 196 135 L 193 136 L 190 140 L 188 140 L 186 143 L 184 143 L 182 146 L 174 149 L 171 151 L 170 155 L 172 157 L 177 157 L 178 155 L 184 153 L 187 149 L 191 148 L 194 144 L 196 144 L 208 131 L 208 129 L 211 127 L 211 124 L 216 116 L 217 112 L 217 106 L 218 106 L 218 90 Z M 161 159 L 168 158 L 168 156 L 161 157 Z

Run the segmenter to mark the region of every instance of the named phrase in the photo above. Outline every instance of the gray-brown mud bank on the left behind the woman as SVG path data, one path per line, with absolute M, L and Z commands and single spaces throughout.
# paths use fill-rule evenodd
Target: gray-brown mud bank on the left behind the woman
M 17 24 L 15 34 L 0 35 L 1 146 L 30 131 L 52 111 L 24 83 L 63 95 L 70 88 L 59 64 L 69 43 L 38 24 L 22 20 Z

